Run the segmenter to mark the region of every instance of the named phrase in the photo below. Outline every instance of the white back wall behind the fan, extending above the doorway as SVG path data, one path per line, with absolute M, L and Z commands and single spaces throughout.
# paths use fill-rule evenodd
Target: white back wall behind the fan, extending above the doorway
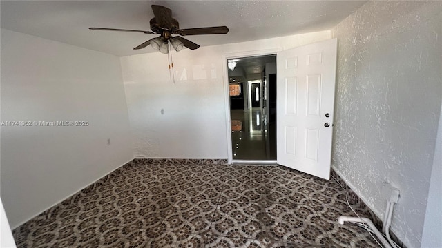
M 122 57 L 135 157 L 227 158 L 227 61 L 222 57 L 329 38 L 324 31 L 173 52 L 175 83 L 169 79 L 166 54 Z

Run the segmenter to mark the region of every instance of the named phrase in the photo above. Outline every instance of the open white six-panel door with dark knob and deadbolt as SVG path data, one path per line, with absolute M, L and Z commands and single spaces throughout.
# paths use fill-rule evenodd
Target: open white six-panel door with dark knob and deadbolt
M 337 40 L 278 52 L 278 164 L 329 179 Z

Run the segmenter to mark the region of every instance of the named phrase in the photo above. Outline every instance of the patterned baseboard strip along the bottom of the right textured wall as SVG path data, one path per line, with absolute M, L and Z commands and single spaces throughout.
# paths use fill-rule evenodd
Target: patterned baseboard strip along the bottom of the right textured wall
M 338 172 L 336 172 L 336 170 L 332 167 L 332 171 L 331 171 L 331 175 L 334 176 L 336 178 L 336 180 L 338 180 L 338 182 L 343 185 L 343 187 L 345 188 L 345 190 L 348 192 L 348 200 L 349 203 L 351 205 L 356 205 L 356 207 L 358 208 L 358 214 L 360 216 L 369 218 L 370 220 L 372 220 L 372 222 L 374 223 L 374 225 L 379 229 L 382 230 L 382 226 L 383 226 L 383 221 L 381 220 L 381 218 L 379 216 L 376 215 L 376 213 L 370 209 L 368 207 L 368 205 L 365 203 L 365 201 L 358 196 L 358 194 L 356 194 L 352 187 L 349 187 L 349 185 L 347 184 L 347 182 L 345 182 L 345 180 L 340 177 L 340 175 L 338 174 Z M 402 248 L 407 248 L 403 242 L 401 240 L 398 239 L 398 237 L 396 236 L 396 234 L 394 234 L 394 232 L 390 229 L 390 237 L 392 238 L 392 240 L 394 242 L 396 242 L 396 244 L 398 244 L 400 247 Z

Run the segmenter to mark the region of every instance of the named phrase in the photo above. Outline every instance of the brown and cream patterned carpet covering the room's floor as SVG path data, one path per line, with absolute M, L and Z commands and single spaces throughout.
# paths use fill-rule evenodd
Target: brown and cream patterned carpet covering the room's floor
M 378 247 L 337 223 L 354 215 L 345 196 L 282 166 L 134 160 L 13 234 L 17 247 Z

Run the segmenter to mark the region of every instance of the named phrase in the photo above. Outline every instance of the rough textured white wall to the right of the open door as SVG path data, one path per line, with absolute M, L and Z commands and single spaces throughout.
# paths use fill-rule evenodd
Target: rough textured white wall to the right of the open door
M 421 245 L 441 113 L 441 6 L 369 1 L 334 29 L 333 167 L 380 217 L 383 184 L 400 189 L 392 231 L 407 247 Z

